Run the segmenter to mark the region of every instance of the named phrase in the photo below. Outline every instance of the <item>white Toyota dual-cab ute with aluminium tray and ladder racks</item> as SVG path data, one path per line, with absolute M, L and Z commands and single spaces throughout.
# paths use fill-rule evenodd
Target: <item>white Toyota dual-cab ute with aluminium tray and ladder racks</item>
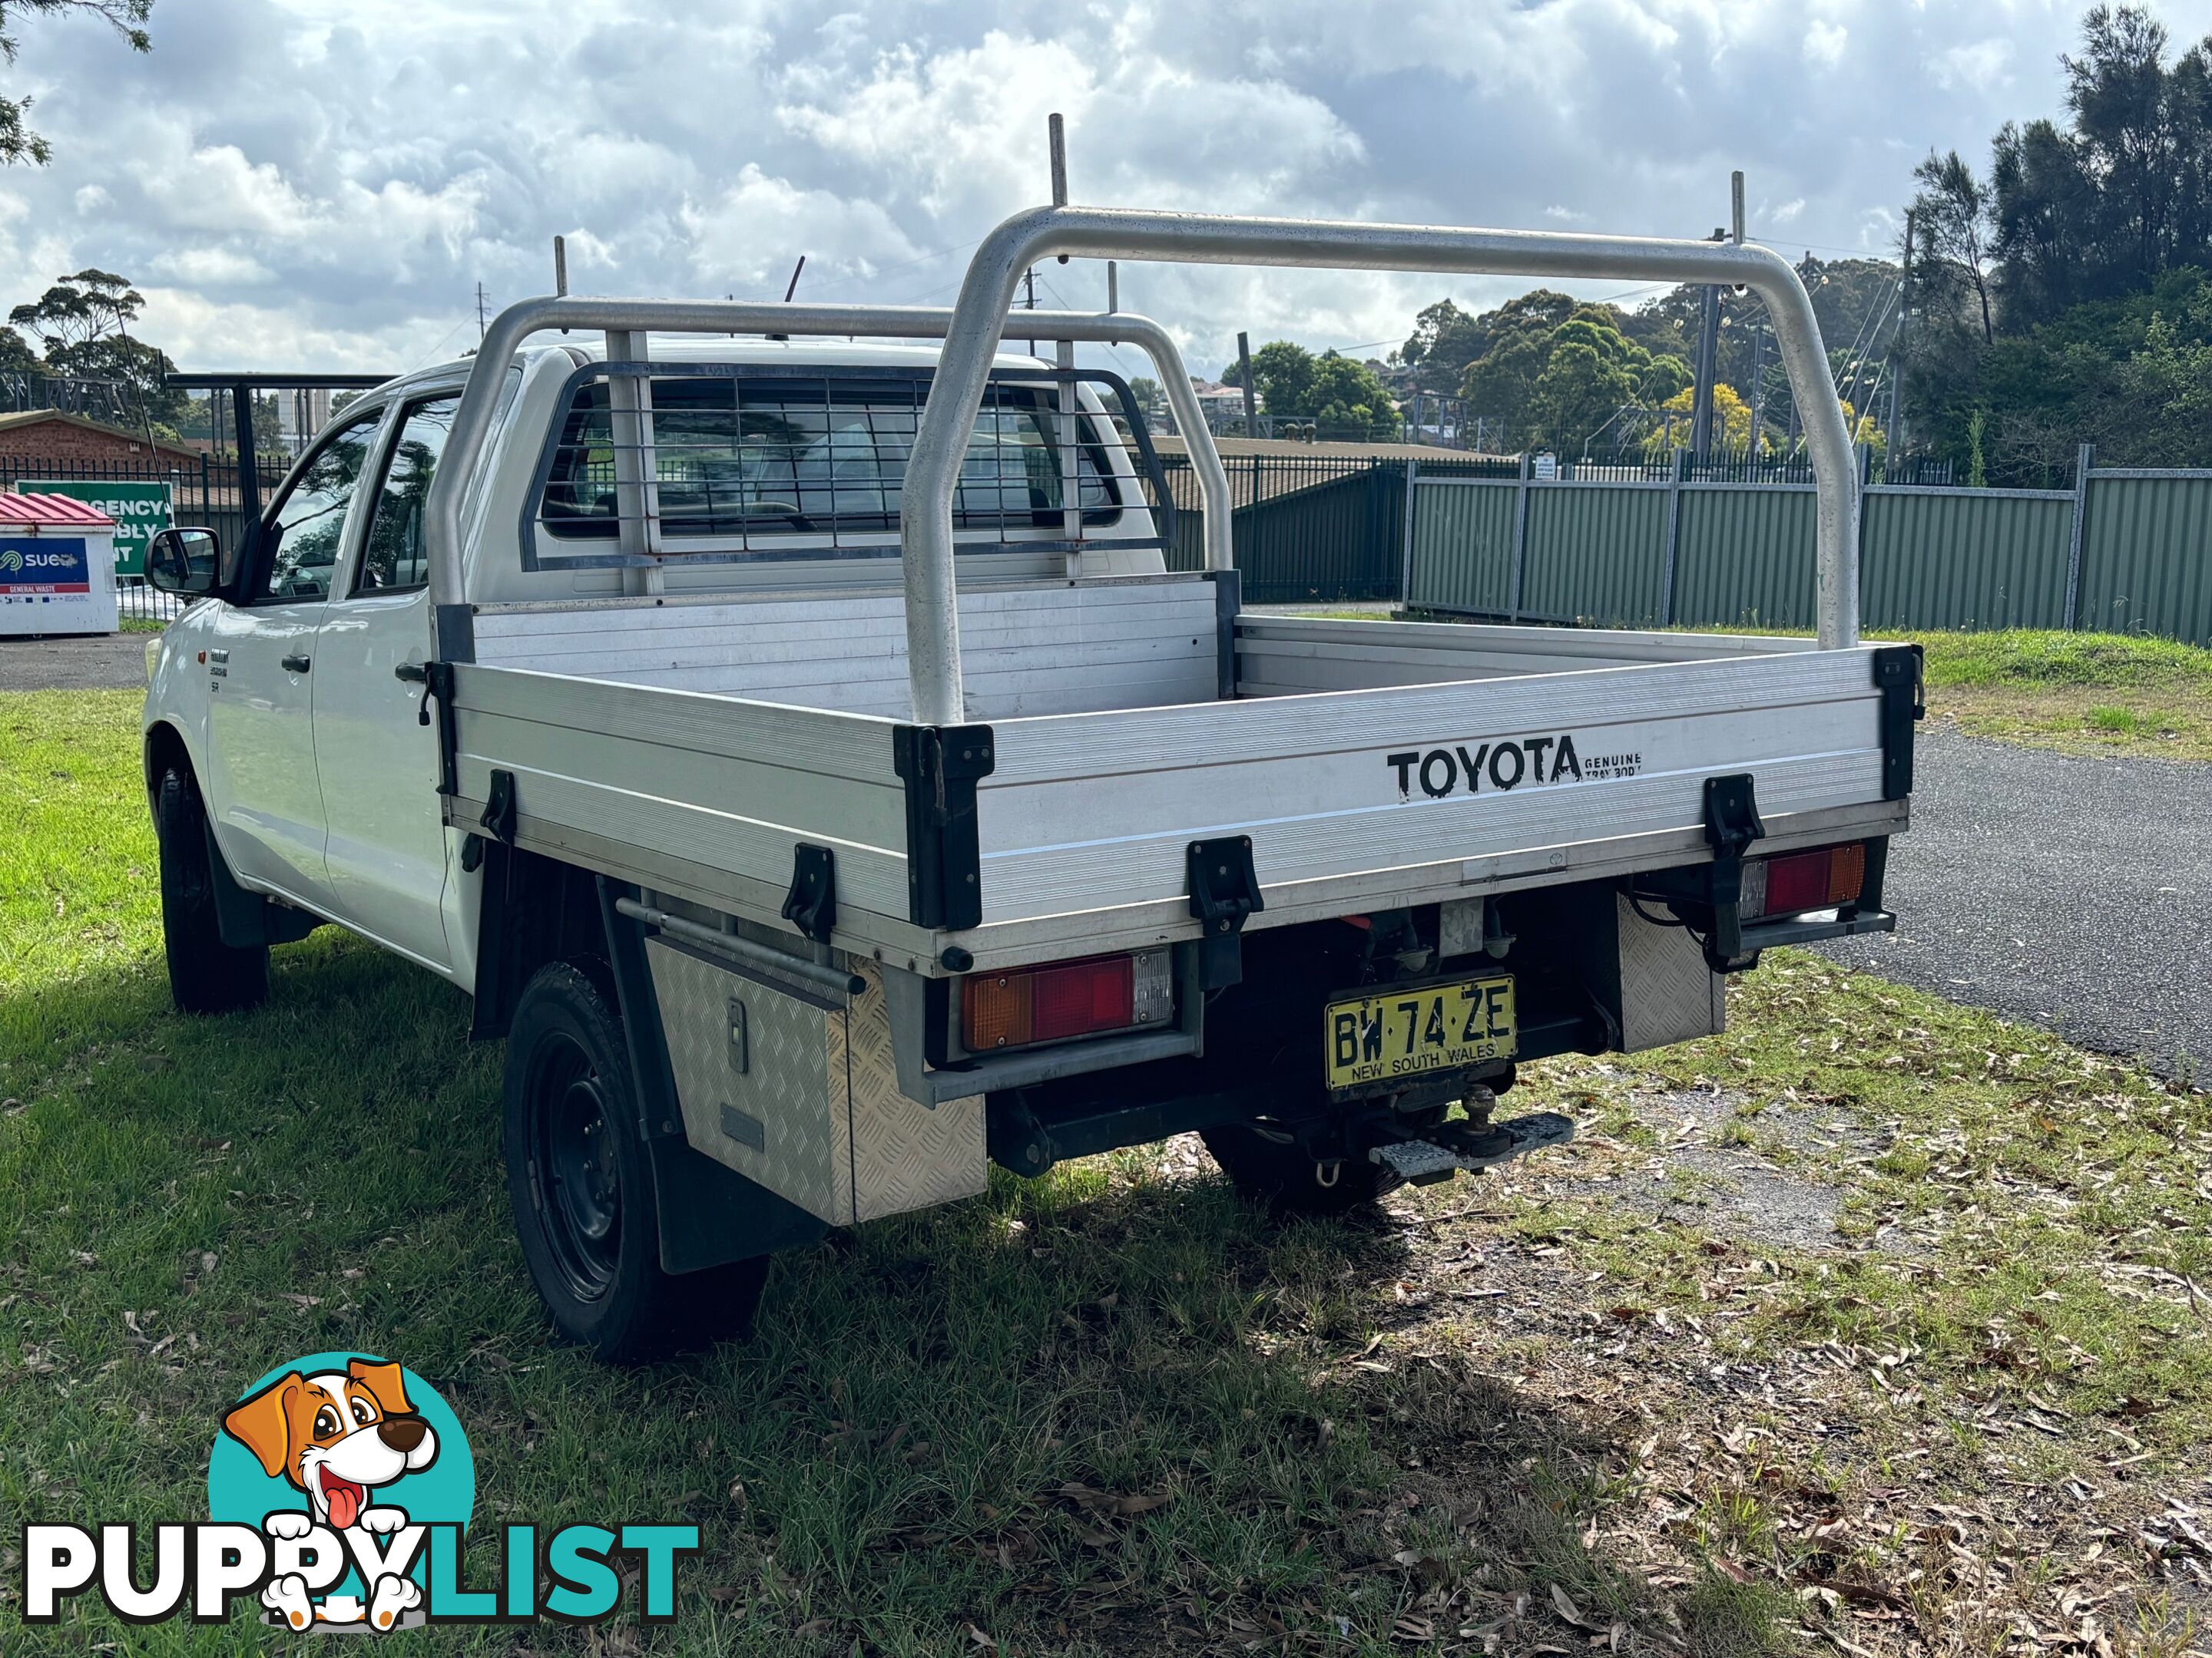
M 1057 252 L 1756 290 L 1818 639 L 1243 610 L 1170 336 L 1020 316 L 1152 356 L 1197 570 L 1126 385 L 1002 349 Z M 1858 641 L 1856 520 L 1750 245 L 1037 208 L 953 309 L 529 301 L 234 546 L 157 537 L 170 984 L 254 1006 L 330 922 L 469 990 L 531 1276 L 611 1360 L 993 1161 L 1199 1132 L 1343 1209 L 1568 1138 L 1495 1112 L 1515 1066 L 1710 1035 L 1763 948 L 1893 924 L 1920 654 Z

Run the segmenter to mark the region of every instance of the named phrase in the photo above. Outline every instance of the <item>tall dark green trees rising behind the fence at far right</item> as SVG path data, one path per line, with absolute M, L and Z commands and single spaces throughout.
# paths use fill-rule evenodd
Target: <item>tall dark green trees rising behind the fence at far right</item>
M 1986 170 L 1929 155 L 1911 201 L 1916 442 L 1991 484 L 2059 484 L 2075 447 L 2212 464 L 2212 38 L 2172 55 L 2095 7 L 2064 117 L 2006 122 Z

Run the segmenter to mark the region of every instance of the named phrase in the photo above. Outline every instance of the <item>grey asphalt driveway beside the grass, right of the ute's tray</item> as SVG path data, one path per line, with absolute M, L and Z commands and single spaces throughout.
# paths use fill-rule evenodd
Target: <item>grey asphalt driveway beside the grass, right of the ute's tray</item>
M 2212 1066 L 2212 765 L 1922 727 L 1889 906 L 1896 933 L 1823 948 L 2166 1074 Z

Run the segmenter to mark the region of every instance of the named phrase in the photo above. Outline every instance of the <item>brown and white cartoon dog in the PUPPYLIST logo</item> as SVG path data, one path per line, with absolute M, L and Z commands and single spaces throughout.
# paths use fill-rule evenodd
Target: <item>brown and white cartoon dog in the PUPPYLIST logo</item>
M 409 1408 L 400 1366 L 374 1360 L 347 1360 L 343 1371 L 316 1375 L 294 1371 L 234 1404 L 223 1430 L 261 1459 L 265 1475 L 307 1497 L 305 1512 L 276 1510 L 261 1523 L 270 1536 L 358 1525 L 389 1539 L 407 1525 L 407 1510 L 372 1505 L 369 1492 L 438 1457 L 438 1435 Z M 392 1629 L 420 1601 L 422 1585 L 400 1574 L 369 1585 L 367 1609 L 354 1596 L 310 1601 L 299 1574 L 272 1578 L 261 1592 L 261 1605 L 292 1629 L 310 1623 Z

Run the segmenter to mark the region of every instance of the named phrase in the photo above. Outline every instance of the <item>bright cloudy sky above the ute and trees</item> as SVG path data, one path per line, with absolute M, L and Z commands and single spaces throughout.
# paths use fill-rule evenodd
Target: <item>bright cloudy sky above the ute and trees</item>
M 155 51 L 20 24 L 53 164 L 0 172 L 0 294 L 102 265 L 186 367 L 405 369 L 491 305 L 604 294 L 949 303 L 1046 197 L 1703 234 L 1750 175 L 1790 254 L 1889 252 L 1929 146 L 2057 111 L 2057 0 L 159 0 Z M 2159 7 L 2179 42 L 2212 0 Z M 1526 283 L 1464 279 L 1464 305 Z M 1214 371 L 1239 327 L 1365 347 L 1433 276 L 1124 267 Z M 1042 272 L 1095 305 L 1104 274 Z M 1599 287 L 1590 287 L 1599 294 Z M 1619 290 L 1604 296 L 1624 296 Z M 1624 296 L 1630 298 L 1630 296 Z

